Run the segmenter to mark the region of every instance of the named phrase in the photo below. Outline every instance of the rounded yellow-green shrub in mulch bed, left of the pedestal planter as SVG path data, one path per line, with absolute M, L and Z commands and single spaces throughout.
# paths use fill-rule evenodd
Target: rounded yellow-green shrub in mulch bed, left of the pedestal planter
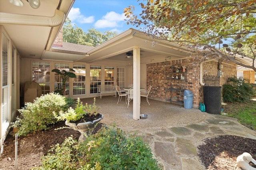
M 34 100 L 34 103 L 27 102 L 25 107 L 18 109 L 22 119 L 20 119 L 19 135 L 27 135 L 36 131 L 48 129 L 50 124 L 58 120 L 54 117 L 54 112 L 58 113 L 66 109 L 64 96 L 49 93 Z

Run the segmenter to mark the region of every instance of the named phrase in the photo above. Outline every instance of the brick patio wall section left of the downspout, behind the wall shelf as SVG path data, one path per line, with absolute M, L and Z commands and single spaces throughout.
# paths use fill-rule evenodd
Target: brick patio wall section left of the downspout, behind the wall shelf
M 166 61 L 161 63 L 150 63 L 147 64 L 147 86 L 152 85 L 152 91 L 149 97 L 156 100 L 165 101 L 170 98 L 170 93 L 166 94 L 166 89 L 170 88 L 172 84 L 178 85 L 180 82 L 186 84 L 187 89 L 193 93 L 193 105 L 199 104 L 200 98 L 200 84 L 199 84 L 199 64 L 191 64 L 192 59 L 183 59 L 176 61 Z M 186 80 L 176 80 L 172 77 L 174 68 L 186 67 L 186 72 L 181 73 L 185 76 Z M 180 77 L 179 77 L 180 78 Z M 172 96 L 178 96 L 175 92 Z

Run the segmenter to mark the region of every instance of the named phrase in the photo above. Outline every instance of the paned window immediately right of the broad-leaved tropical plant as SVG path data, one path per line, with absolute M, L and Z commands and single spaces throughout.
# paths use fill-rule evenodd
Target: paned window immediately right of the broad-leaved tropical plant
M 76 78 L 73 82 L 73 95 L 85 94 L 85 65 L 74 64 L 73 69 L 76 71 Z

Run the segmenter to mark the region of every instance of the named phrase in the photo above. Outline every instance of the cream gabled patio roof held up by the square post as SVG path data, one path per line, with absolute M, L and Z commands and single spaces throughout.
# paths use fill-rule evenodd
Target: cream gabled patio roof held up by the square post
M 72 43 L 64 43 L 63 47 L 52 47 L 50 51 L 46 51 L 42 59 L 86 63 L 95 63 L 103 59 L 132 61 L 132 57 L 130 59 L 126 58 L 126 53 L 129 51 L 132 52 L 134 47 L 140 48 L 141 58 L 150 58 L 152 56 L 171 56 L 172 59 L 181 59 L 184 57 L 189 57 L 192 53 L 192 51 L 186 49 L 184 46 L 180 46 L 176 43 L 165 40 L 152 38 L 146 33 L 132 28 L 96 47 L 90 48 L 84 45 L 84 49 L 81 50 L 83 46 L 80 45 L 79 47 L 77 45 L 76 49 L 72 49 L 72 47 L 70 47 L 67 51 L 67 47 L 65 47 L 66 45 L 72 45 Z M 76 50 L 76 52 L 72 50 Z M 59 53 L 56 55 L 56 53 L 53 52 Z M 72 57 L 70 57 L 71 53 L 74 54 Z

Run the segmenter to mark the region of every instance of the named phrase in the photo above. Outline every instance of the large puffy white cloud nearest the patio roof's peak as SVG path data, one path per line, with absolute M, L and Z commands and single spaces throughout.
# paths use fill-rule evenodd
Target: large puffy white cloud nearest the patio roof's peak
M 94 26 L 95 28 L 118 27 L 120 25 L 120 21 L 124 21 L 124 19 L 124 14 L 118 14 L 111 11 L 103 16 L 101 20 L 96 21 Z

